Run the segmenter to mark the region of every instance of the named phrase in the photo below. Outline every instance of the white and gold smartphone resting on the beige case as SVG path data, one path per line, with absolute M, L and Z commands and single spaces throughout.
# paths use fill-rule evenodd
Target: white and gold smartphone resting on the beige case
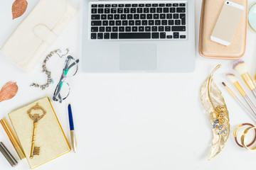
M 210 40 L 225 46 L 230 45 L 244 11 L 244 6 L 232 1 L 225 1 L 213 33 L 210 35 Z

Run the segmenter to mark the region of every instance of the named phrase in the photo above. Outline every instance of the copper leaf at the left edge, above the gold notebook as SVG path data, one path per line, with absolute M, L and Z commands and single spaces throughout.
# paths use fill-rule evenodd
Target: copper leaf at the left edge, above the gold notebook
M 9 81 L 0 91 L 0 102 L 13 98 L 18 92 L 16 83 Z

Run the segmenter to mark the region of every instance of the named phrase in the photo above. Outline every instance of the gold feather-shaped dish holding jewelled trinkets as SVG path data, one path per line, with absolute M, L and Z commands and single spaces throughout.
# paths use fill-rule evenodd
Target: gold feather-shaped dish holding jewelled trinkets
M 206 110 L 213 131 L 212 146 L 208 160 L 216 157 L 225 147 L 230 134 L 228 109 L 221 91 L 213 81 L 213 73 L 220 67 L 219 64 L 210 76 L 203 82 L 200 90 L 201 102 Z

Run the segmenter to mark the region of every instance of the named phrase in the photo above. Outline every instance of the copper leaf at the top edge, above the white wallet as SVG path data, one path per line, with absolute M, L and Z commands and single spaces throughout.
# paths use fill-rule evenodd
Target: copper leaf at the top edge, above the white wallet
M 14 4 L 12 5 L 12 14 L 13 14 L 13 20 L 15 18 L 18 18 L 25 13 L 26 8 L 28 7 L 28 2 L 26 0 L 16 0 L 14 1 Z

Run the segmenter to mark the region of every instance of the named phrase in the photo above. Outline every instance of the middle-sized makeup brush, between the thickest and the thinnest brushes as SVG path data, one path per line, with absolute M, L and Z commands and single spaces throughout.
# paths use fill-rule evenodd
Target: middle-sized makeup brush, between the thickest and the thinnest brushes
M 242 95 L 249 107 L 252 109 L 252 112 L 256 115 L 256 107 L 238 83 L 238 80 L 235 78 L 235 74 L 228 73 L 226 74 L 226 77 L 234 84 L 235 88 L 238 89 L 239 93 Z

